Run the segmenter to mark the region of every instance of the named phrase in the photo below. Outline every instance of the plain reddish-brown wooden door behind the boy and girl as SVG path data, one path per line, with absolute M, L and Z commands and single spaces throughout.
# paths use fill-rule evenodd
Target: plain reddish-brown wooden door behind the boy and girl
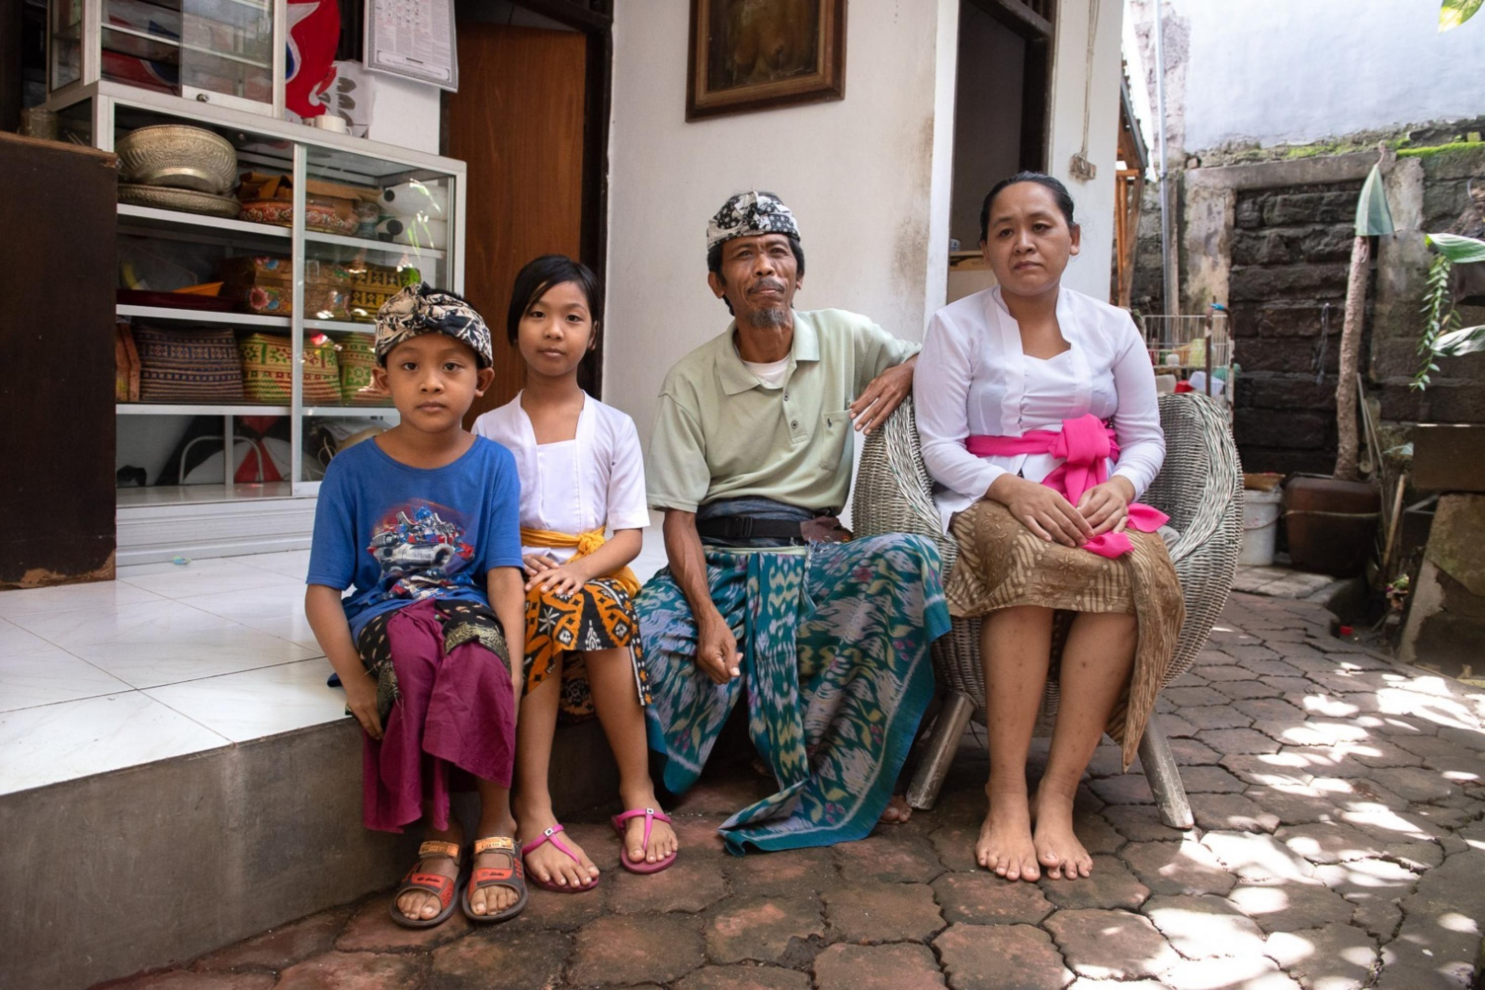
M 466 424 L 526 378 L 505 330 L 515 273 L 538 255 L 582 249 L 587 50 L 578 31 L 459 22 L 447 153 L 469 165 L 465 297 L 495 337 L 495 386 Z

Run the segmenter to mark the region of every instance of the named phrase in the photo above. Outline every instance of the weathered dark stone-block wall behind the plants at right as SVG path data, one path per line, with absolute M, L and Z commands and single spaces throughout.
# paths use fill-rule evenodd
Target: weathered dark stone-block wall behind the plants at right
M 1319 154 L 1169 177 L 1179 312 L 1203 313 L 1212 301 L 1231 312 L 1241 365 L 1234 430 L 1247 471 L 1334 468 L 1336 361 L 1356 199 L 1375 162 L 1374 151 Z M 1383 174 L 1397 233 L 1375 240 L 1362 373 L 1387 444 L 1406 439 L 1406 426 L 1417 422 L 1485 422 L 1485 355 L 1440 361 L 1427 390 L 1409 387 L 1432 254 L 1424 233 L 1458 230 L 1461 217 L 1469 217 L 1470 178 L 1476 200 L 1485 203 L 1485 145 L 1405 153 Z M 1148 189 L 1132 303 L 1158 313 L 1158 193 Z M 1320 359 L 1326 303 L 1329 334 Z M 1485 324 L 1485 309 L 1461 315 L 1466 325 Z

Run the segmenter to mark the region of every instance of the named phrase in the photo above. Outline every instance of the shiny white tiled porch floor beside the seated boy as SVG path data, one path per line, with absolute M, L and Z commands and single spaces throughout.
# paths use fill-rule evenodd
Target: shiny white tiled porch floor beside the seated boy
M 650 527 L 634 571 L 662 564 Z M 0 592 L 0 794 L 345 717 L 307 567 L 290 551 Z

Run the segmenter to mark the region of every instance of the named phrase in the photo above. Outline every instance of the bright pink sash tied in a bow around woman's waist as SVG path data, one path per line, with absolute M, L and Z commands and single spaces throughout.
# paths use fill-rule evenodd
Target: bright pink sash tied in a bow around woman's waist
M 964 448 L 976 457 L 1014 457 L 1017 454 L 1051 454 L 1063 459 L 1041 484 L 1063 496 L 1072 505 L 1083 493 L 1109 479 L 1108 460 L 1118 457 L 1118 441 L 1114 427 L 1091 413 L 1075 420 L 1062 420 L 1062 432 L 1026 430 L 1020 436 L 976 435 L 964 441 Z M 1154 506 L 1140 502 L 1129 503 L 1129 525 L 1140 533 L 1154 533 L 1170 517 Z M 1130 551 L 1129 537 L 1123 533 L 1100 533 L 1083 545 L 1083 549 L 1109 560 Z

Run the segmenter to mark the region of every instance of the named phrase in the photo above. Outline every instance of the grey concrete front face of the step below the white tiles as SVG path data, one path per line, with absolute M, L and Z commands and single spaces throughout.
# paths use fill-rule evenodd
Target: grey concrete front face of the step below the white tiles
M 0 987 L 89 987 L 394 885 L 417 834 L 362 828 L 361 745 L 346 718 L 0 796 Z M 597 720 L 558 730 L 551 787 L 558 815 L 615 797 Z

